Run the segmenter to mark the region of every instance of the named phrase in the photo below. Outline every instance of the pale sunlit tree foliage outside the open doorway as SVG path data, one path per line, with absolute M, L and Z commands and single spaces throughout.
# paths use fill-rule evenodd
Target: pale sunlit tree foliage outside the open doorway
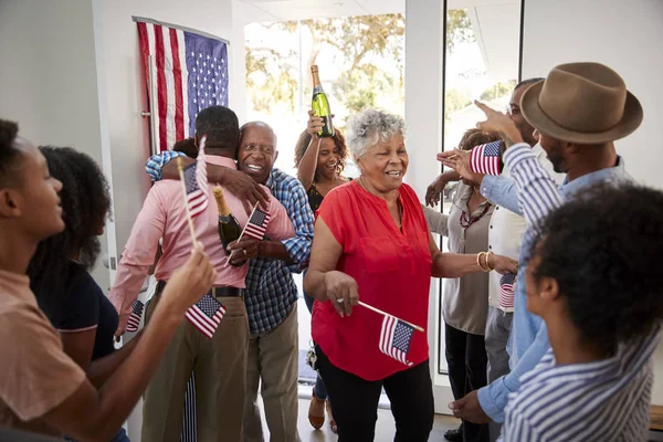
M 465 10 L 449 11 L 446 46 L 453 51 L 460 42 L 474 40 Z M 330 83 L 329 94 L 348 112 L 380 106 L 391 101 L 402 106 L 404 98 L 404 34 L 402 14 L 358 15 L 301 22 L 263 23 L 263 28 L 312 39 L 311 51 L 302 54 L 304 93 L 311 94 L 311 65 L 322 51 L 337 53 L 340 75 Z M 383 60 L 388 70 L 376 62 Z M 298 54 L 276 48 L 246 45 L 246 92 L 255 110 L 293 112 L 298 99 Z M 277 73 L 270 75 L 271 73 Z M 323 81 L 324 78 L 323 74 Z M 308 96 L 306 95 L 306 96 Z M 456 99 L 457 97 L 453 98 Z M 457 98 L 460 99 L 460 98 Z

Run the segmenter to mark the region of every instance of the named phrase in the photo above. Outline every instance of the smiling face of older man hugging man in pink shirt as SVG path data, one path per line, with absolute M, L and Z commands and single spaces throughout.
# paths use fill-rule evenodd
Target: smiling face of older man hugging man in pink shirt
M 241 171 L 264 185 L 277 156 L 276 137 L 269 126 L 251 125 L 243 129 L 238 151 Z

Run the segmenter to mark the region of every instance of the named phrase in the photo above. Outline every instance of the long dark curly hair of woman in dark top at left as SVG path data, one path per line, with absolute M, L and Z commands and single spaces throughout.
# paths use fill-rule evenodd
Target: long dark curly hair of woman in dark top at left
M 65 229 L 39 243 L 28 267 L 30 285 L 49 317 L 56 315 L 74 256 L 92 270 L 102 251 L 97 229 L 110 215 L 108 182 L 87 155 L 69 147 L 40 147 L 51 176 L 62 181 L 60 200 Z

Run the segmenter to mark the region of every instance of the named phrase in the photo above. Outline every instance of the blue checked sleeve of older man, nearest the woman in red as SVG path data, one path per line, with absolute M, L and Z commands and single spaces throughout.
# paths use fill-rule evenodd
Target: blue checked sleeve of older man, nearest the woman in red
M 308 197 L 304 186 L 298 181 L 291 185 L 290 198 L 283 201 L 285 211 L 293 222 L 295 235 L 281 241 L 285 250 L 294 261 L 288 265 L 291 272 L 299 273 L 308 265 L 311 245 L 313 244 L 313 211 L 308 204 Z

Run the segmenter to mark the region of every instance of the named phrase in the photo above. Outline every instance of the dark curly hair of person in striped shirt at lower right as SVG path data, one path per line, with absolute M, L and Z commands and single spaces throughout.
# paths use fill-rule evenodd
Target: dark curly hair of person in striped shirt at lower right
M 532 275 L 557 281 L 587 343 L 612 354 L 661 322 L 654 263 L 663 250 L 663 192 L 600 185 L 550 213 L 538 231 Z

